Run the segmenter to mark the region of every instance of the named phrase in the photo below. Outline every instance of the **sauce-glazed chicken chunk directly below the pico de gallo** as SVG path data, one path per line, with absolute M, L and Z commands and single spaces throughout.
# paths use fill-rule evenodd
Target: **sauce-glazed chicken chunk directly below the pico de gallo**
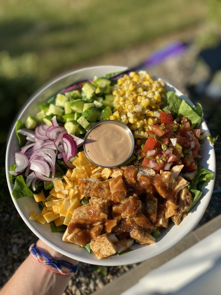
M 174 188 L 177 185 L 177 181 L 170 172 L 164 172 L 161 175 L 156 174 L 153 178 L 153 185 L 156 191 L 165 199 L 174 198 L 176 195 Z

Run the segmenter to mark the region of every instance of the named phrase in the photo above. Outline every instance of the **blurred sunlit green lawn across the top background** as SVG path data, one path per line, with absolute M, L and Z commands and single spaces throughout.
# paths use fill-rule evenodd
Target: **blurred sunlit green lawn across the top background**
M 205 11 L 201 0 L 1 1 L 0 48 L 12 56 L 36 54 L 44 80 L 76 63 L 192 26 Z

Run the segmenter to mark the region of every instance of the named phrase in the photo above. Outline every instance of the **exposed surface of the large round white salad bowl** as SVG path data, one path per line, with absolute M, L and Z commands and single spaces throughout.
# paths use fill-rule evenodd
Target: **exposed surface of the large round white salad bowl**
M 106 73 L 124 71 L 125 69 L 126 68 L 120 66 L 98 66 L 92 68 L 85 68 L 79 71 L 67 73 L 64 76 L 60 76 L 59 78 L 50 82 L 47 86 L 44 86 L 29 99 L 29 101 L 24 106 L 20 114 L 17 116 L 16 121 L 17 119 L 20 119 L 24 122 L 27 119 L 28 115 L 34 116 L 37 112 L 39 112 L 39 104 L 47 101 L 56 92 L 71 85 L 71 83 L 74 83 L 75 81 L 92 79 L 94 76 L 105 76 Z M 167 83 L 167 91 L 170 90 L 176 92 L 176 94 L 179 95 L 181 99 L 184 99 L 187 102 L 189 102 L 189 104 L 192 104 L 191 101 L 184 94 L 182 94 L 175 87 Z M 14 153 L 19 151 L 19 146 L 15 135 L 15 125 L 16 122 L 10 132 L 6 150 L 6 171 L 9 171 L 10 165 L 14 164 Z M 204 121 L 202 122 L 200 128 L 201 131 L 206 131 L 205 134 L 210 133 Z M 54 248 L 58 252 L 71 258 L 74 258 L 76 260 L 103 266 L 117 266 L 136 263 L 154 257 L 172 247 L 174 244 L 179 242 L 185 235 L 187 235 L 191 230 L 193 230 L 194 227 L 196 227 L 199 220 L 202 218 L 207 208 L 207 205 L 210 201 L 215 179 L 215 151 L 214 147 L 210 145 L 208 140 L 205 140 L 204 144 L 202 145 L 202 155 L 203 160 L 200 164 L 204 166 L 204 168 L 213 172 L 214 178 L 209 183 L 207 183 L 206 186 L 202 188 L 202 199 L 190 212 L 188 212 L 187 217 L 183 219 L 179 226 L 171 224 L 168 227 L 168 229 L 161 230 L 162 235 L 159 239 L 157 239 L 157 242 L 155 244 L 136 244 L 132 246 L 133 251 L 129 253 L 120 256 L 115 255 L 111 258 L 106 258 L 102 260 L 98 260 L 94 254 L 89 254 L 85 248 L 79 248 L 78 245 L 75 245 L 73 243 L 63 242 L 62 234 L 52 233 L 49 224 L 42 225 L 40 223 L 29 220 L 31 210 L 39 212 L 38 204 L 34 201 L 33 197 L 24 197 L 16 201 L 12 197 L 12 190 L 14 185 L 11 182 L 9 182 L 8 173 L 6 173 L 6 175 L 9 191 L 11 193 L 11 198 L 14 202 L 14 205 L 17 208 L 24 222 L 27 224 L 30 230 L 32 230 L 32 232 L 34 232 L 34 234 L 37 235 L 37 237 L 39 237 L 46 244 L 48 244 L 50 247 Z

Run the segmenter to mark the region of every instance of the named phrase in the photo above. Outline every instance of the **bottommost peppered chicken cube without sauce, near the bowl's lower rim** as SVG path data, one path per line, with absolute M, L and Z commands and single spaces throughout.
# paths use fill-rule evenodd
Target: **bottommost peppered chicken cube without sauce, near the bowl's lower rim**
M 95 240 L 90 242 L 90 248 L 98 259 L 102 259 L 116 253 L 116 246 L 106 235 L 99 235 Z

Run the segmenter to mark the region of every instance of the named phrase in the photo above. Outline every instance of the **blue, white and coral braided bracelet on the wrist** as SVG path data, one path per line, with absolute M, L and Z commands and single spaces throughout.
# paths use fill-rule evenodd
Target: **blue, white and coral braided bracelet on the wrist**
M 51 255 L 41 249 L 36 248 L 36 243 L 29 247 L 29 252 L 35 261 L 42 264 L 45 268 L 55 273 L 61 273 L 66 276 L 74 276 L 78 267 L 64 260 L 54 260 Z

